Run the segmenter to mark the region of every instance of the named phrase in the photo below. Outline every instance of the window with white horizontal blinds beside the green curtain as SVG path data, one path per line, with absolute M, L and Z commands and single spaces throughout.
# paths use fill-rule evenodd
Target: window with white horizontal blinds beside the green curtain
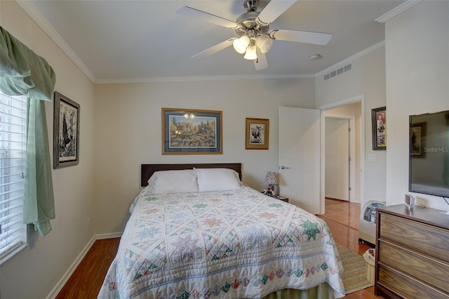
M 27 98 L 0 91 L 0 260 L 27 241 L 23 223 Z

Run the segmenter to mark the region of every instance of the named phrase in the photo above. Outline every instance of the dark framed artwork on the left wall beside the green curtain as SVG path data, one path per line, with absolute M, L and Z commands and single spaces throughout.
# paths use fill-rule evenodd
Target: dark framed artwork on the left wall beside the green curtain
M 79 104 L 56 91 L 53 102 L 53 168 L 77 165 Z

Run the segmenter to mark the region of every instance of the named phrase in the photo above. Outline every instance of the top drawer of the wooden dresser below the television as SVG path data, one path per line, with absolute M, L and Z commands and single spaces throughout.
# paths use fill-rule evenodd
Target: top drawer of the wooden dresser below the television
M 394 215 L 380 213 L 379 238 L 390 239 L 408 248 L 449 262 L 449 232 Z

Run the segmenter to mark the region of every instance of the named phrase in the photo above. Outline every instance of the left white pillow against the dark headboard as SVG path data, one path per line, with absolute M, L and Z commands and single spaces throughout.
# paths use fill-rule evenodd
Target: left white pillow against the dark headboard
M 150 194 L 198 192 L 196 171 L 156 171 L 148 180 Z

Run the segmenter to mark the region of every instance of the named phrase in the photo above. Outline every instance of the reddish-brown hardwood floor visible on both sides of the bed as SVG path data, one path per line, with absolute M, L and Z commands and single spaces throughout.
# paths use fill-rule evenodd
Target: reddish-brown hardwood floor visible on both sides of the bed
M 326 213 L 320 218 L 328 223 L 335 241 L 351 251 L 363 254 L 369 246 L 358 244 L 358 218 L 360 205 L 326 199 Z M 109 265 L 119 248 L 119 238 L 97 240 L 83 258 L 57 299 L 97 298 Z M 374 295 L 374 287 L 344 296 L 347 299 L 382 298 Z

